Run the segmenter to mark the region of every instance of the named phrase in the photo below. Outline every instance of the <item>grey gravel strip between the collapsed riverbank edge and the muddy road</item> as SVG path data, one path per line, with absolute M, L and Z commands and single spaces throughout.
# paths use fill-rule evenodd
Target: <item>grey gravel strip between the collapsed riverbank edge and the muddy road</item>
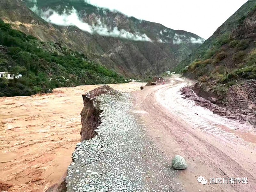
M 183 191 L 170 159 L 148 138 L 129 113 L 130 94 L 100 95 L 102 124 L 98 135 L 77 144 L 68 168 L 68 192 Z

